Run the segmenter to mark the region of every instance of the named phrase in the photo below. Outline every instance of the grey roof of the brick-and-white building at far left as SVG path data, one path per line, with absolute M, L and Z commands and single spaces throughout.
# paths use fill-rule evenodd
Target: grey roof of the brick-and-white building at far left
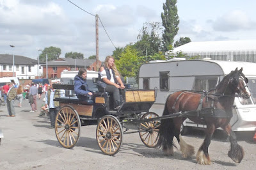
M 0 54 L 0 63 L 2 65 L 12 65 L 13 64 L 13 55 L 12 54 Z M 24 56 L 14 55 L 14 64 L 15 65 L 36 65 L 38 60 L 27 58 Z

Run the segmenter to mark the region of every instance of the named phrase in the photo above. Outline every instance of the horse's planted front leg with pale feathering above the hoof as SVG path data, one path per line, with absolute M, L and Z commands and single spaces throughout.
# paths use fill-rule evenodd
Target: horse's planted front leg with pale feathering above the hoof
M 208 147 L 211 143 L 212 134 L 214 133 L 215 125 L 207 125 L 205 130 L 204 143 L 200 146 L 198 152 L 196 153 L 196 161 L 198 164 L 209 165 L 211 164 L 211 159 L 208 153 Z

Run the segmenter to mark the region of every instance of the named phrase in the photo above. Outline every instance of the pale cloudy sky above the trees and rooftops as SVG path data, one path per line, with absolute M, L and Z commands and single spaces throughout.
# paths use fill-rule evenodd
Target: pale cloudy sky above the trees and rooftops
M 144 22 L 161 22 L 165 0 L 70 0 L 92 15 L 98 14 L 115 47 L 136 42 Z M 95 17 L 67 0 L 0 0 L 0 54 L 37 59 L 38 49 L 60 47 L 95 54 Z M 179 33 L 192 42 L 256 39 L 256 1 L 178 0 Z M 113 54 L 99 22 L 99 56 Z M 40 52 L 40 51 L 39 51 Z

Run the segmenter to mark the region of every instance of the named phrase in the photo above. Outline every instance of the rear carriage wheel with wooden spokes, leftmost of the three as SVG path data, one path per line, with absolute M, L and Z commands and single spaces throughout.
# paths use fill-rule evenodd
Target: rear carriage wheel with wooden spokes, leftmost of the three
M 64 148 L 73 148 L 80 136 L 81 121 L 77 111 L 69 105 L 61 107 L 55 120 L 55 134 Z

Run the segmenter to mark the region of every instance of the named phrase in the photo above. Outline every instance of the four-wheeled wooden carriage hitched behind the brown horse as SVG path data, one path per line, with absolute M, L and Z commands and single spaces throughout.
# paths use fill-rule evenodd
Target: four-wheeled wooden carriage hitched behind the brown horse
M 54 89 L 65 89 L 72 94 L 74 85 L 53 84 Z M 55 98 L 60 102 L 60 110 L 56 115 L 56 137 L 64 148 L 72 148 L 79 140 L 81 126 L 97 125 L 97 143 L 100 150 L 107 155 L 115 155 L 122 146 L 124 123 L 134 120 L 155 118 L 158 115 L 149 112 L 155 102 L 154 90 L 126 90 L 124 102 L 117 110 L 113 110 L 112 97 L 108 93 L 95 93 L 90 100 L 79 100 L 74 96 Z M 133 122 L 134 123 L 134 122 Z M 156 146 L 159 121 L 137 123 L 141 141 L 148 147 Z M 131 133 L 134 133 L 131 132 Z

